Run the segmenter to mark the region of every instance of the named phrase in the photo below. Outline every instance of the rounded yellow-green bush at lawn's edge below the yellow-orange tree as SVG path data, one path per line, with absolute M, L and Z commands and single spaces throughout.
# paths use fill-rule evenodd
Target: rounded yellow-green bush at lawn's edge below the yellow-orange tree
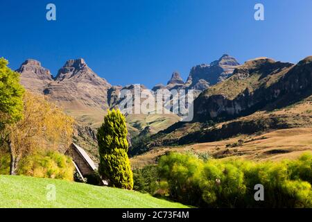
M 70 157 L 49 151 L 28 155 L 22 159 L 19 163 L 17 174 L 72 181 L 73 171 L 74 167 Z

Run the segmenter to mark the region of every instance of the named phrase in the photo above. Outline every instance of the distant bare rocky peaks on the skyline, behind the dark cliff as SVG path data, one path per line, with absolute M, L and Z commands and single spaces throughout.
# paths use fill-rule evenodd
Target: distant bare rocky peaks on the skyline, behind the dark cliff
M 203 90 L 222 82 L 230 76 L 239 63 L 228 55 L 209 65 L 197 65 L 191 68 L 189 78 L 184 83 L 177 72 L 173 72 L 166 86 L 156 85 L 152 90 L 195 89 L 197 95 Z M 76 117 L 78 121 L 98 127 L 105 110 L 120 103 L 121 89 L 132 89 L 134 85 L 111 85 L 87 66 L 83 58 L 68 60 L 55 77 L 49 69 L 42 67 L 37 60 L 26 60 L 17 72 L 21 74 L 21 84 L 33 92 L 45 94 L 58 103 L 64 110 Z M 146 89 L 141 85 L 141 89 Z

